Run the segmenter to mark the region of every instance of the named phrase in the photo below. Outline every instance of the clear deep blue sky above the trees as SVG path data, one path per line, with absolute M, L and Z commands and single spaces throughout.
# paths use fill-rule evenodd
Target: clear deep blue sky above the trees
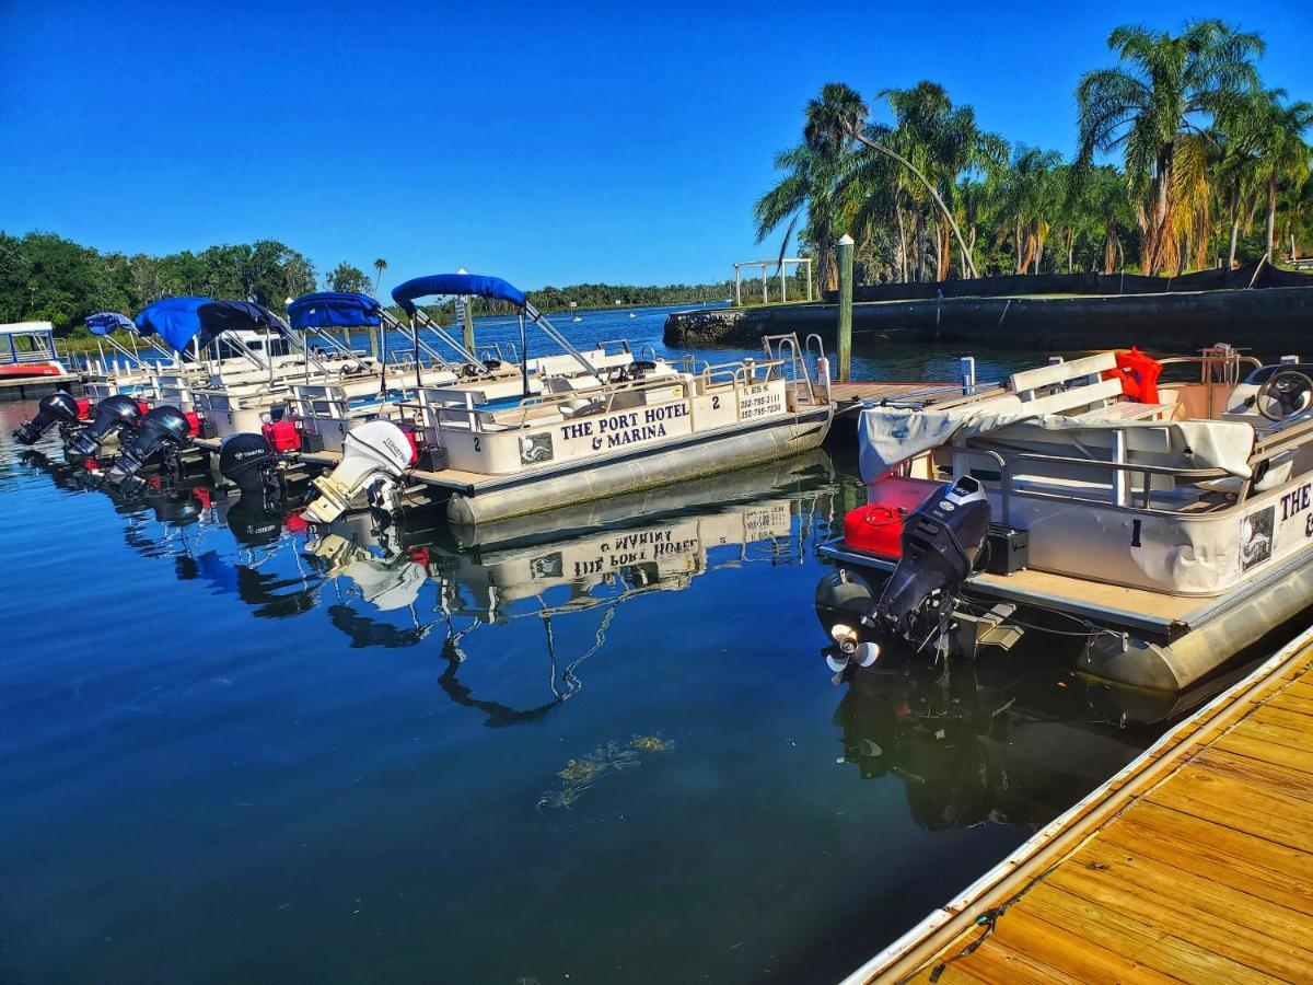
M 150 253 L 268 236 L 320 272 L 383 256 L 390 282 L 709 281 L 777 250 L 751 205 L 825 81 L 934 79 L 1070 154 L 1113 26 L 1218 16 L 1313 100 L 1306 0 L 1079 7 L 0 0 L 0 229 Z

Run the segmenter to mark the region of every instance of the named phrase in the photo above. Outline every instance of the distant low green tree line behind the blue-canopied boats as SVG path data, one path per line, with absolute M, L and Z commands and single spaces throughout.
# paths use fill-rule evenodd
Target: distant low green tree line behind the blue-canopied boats
M 100 252 L 53 232 L 16 236 L 0 231 L 0 322 L 51 322 L 56 331 L 85 334 L 83 320 L 96 311 L 133 315 L 163 297 L 200 294 L 213 298 L 253 298 L 282 313 L 288 298 L 314 290 L 351 290 L 379 297 L 387 261 L 374 260 L 374 276 L 340 263 L 322 277 L 301 252 L 274 239 L 236 246 L 213 246 L 200 252 L 165 256 Z M 386 293 L 386 292 L 385 292 Z M 681 305 L 723 301 L 731 282 L 579 284 L 528 292 L 542 311 Z M 435 313 L 450 314 L 450 305 Z M 496 310 L 477 305 L 477 313 Z M 509 309 L 507 309 L 509 310 Z

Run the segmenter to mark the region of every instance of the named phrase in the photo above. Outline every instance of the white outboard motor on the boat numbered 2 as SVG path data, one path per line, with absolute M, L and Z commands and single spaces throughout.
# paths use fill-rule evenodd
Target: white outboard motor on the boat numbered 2
M 348 431 L 337 468 L 314 481 L 319 498 L 306 507 L 305 517 L 310 523 L 332 523 L 362 506 L 395 512 L 402 473 L 415 460 L 410 436 L 390 420 L 372 420 Z

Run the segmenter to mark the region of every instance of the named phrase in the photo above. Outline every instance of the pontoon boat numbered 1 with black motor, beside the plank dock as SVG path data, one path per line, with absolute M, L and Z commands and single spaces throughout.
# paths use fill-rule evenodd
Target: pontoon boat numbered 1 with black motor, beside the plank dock
M 1197 377 L 1158 383 L 1165 365 Z M 923 646 L 973 600 L 1002 602 L 1087 625 L 1091 674 L 1200 679 L 1313 603 L 1310 372 L 1226 345 L 1106 352 L 868 407 L 869 504 L 822 546 L 846 570 L 818 603 L 861 616 L 836 641 L 871 661 L 864 637 Z M 889 569 L 877 591 L 867 573 Z

